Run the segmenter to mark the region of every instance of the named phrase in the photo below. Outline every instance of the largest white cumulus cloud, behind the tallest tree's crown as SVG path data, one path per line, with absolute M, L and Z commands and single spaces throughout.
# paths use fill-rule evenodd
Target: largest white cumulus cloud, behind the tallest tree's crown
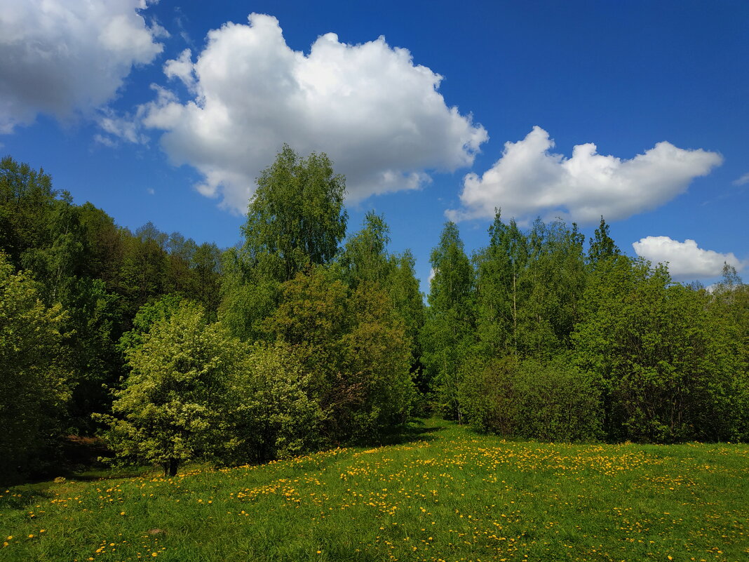
M 300 154 L 325 152 L 346 176 L 350 199 L 414 189 L 431 169 L 470 166 L 486 130 L 446 106 L 442 76 L 413 64 L 383 37 L 342 43 L 324 34 L 309 53 L 290 49 L 278 20 L 252 13 L 249 25 L 210 31 L 192 62 L 168 61 L 194 98 L 163 89 L 143 124 L 163 130 L 172 161 L 198 169 L 198 190 L 245 211 L 264 167 L 287 142 Z

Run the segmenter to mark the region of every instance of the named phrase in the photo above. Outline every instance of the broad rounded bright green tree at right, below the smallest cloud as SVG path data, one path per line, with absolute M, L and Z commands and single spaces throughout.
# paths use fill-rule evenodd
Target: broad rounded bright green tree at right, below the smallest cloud
M 576 362 L 601 379 L 610 438 L 727 438 L 726 397 L 740 369 L 705 291 L 672 283 L 664 266 L 615 256 L 589 277 L 582 308 Z

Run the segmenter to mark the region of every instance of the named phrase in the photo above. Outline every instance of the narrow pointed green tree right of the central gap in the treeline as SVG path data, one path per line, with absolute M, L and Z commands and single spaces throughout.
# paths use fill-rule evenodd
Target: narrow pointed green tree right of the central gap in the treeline
M 461 368 L 473 345 L 473 268 L 455 223 L 448 222 L 431 253 L 434 278 L 422 331 L 422 361 L 446 414 L 461 420 Z

